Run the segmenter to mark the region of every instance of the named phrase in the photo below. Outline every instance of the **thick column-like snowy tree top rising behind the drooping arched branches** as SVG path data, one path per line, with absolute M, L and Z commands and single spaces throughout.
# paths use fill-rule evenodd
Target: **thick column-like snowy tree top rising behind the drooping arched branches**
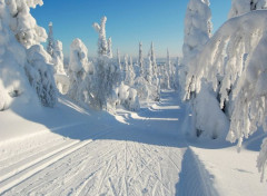
M 209 0 L 190 0 L 185 18 L 184 63 L 198 53 L 211 36 Z

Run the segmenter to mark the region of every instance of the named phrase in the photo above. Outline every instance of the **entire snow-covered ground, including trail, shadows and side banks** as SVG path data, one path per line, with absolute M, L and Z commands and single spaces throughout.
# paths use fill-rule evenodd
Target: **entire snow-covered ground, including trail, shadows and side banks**
M 260 134 L 240 154 L 227 143 L 188 140 L 174 91 L 139 112 L 56 108 L 0 112 L 0 195 L 257 195 Z

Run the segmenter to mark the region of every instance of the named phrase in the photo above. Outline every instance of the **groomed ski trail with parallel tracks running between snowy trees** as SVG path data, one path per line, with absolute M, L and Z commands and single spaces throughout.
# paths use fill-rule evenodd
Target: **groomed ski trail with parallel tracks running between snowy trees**
M 67 129 L 80 139 L 44 133 L 28 145 L 7 146 L 10 156 L 0 157 L 0 195 L 179 194 L 188 147 L 177 131 L 185 112 L 177 96 L 164 92 L 159 104 L 138 114 L 118 111 L 117 120 L 102 121 L 105 128 L 87 137 L 79 131 L 90 129 L 86 122 Z

